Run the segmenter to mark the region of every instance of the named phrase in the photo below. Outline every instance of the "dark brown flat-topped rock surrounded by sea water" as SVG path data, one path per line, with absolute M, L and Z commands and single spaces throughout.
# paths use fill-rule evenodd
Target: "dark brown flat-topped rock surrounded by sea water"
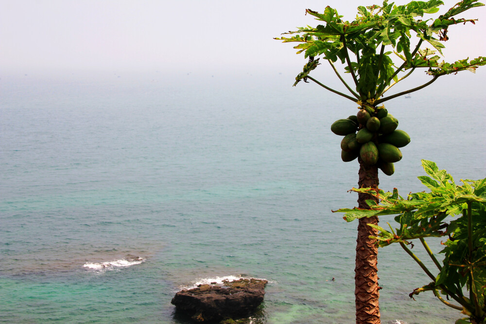
M 220 285 L 199 285 L 177 292 L 171 303 L 197 322 L 247 317 L 263 301 L 267 283 L 264 279 L 242 278 L 224 280 Z

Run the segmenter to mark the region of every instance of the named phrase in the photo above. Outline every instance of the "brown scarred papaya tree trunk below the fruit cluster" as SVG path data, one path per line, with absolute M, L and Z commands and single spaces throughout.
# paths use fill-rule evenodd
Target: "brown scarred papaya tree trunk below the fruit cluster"
M 378 188 L 378 168 L 376 165 L 367 166 L 361 158 L 359 171 L 359 188 Z M 358 207 L 369 209 L 366 200 L 375 200 L 373 196 L 365 193 L 358 194 Z M 378 247 L 376 239 L 369 236 L 376 236 L 378 231 L 367 224 L 378 224 L 378 217 L 361 218 L 358 224 L 358 239 L 356 240 L 356 268 L 354 269 L 354 281 L 356 297 L 356 323 L 377 324 L 380 323 L 380 297 L 378 286 Z

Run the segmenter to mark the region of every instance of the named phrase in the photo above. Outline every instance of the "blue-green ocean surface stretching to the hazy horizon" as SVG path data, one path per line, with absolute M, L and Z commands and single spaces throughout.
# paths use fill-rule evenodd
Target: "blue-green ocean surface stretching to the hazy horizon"
M 241 276 L 269 280 L 252 323 L 354 323 L 357 222 L 331 210 L 357 205 L 358 163 L 330 124 L 357 106 L 292 83 L 2 76 L 0 323 L 185 324 L 176 291 Z M 385 103 L 412 142 L 380 187 L 424 190 L 422 158 L 484 178 L 485 94 L 422 91 Z M 408 297 L 429 279 L 399 247 L 379 276 L 382 323 L 461 317 Z

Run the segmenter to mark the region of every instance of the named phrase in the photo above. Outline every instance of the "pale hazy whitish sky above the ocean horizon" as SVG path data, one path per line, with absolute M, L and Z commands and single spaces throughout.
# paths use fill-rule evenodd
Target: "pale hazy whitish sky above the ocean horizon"
M 300 67 L 303 55 L 273 40 L 316 25 L 305 9 L 326 5 L 353 20 L 357 0 L 0 0 L 2 72 L 275 70 Z M 408 2 L 408 1 L 406 1 Z M 406 3 L 396 1 L 397 4 Z M 457 0 L 445 1 L 445 12 Z M 486 7 L 460 15 L 448 61 L 486 55 Z

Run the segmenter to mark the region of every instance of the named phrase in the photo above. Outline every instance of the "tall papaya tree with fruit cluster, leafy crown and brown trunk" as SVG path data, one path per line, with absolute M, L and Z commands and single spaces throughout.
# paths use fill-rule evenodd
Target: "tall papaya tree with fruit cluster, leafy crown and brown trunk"
M 440 0 L 412 1 L 395 5 L 383 1 L 382 5 L 359 6 L 355 20 L 342 19 L 336 9 L 329 6 L 319 13 L 310 9 L 306 15 L 315 17 L 316 27 L 300 27 L 275 38 L 284 43 L 298 43 L 297 54 L 304 53 L 308 62 L 295 78 L 295 84 L 309 80 L 323 88 L 349 99 L 360 109 L 356 115 L 335 121 L 331 131 L 344 136 L 341 141 L 341 158 L 344 162 L 358 159 L 359 188 L 378 190 L 378 169 L 386 175 L 395 172 L 394 163 L 402 158 L 400 147 L 410 142 L 398 120 L 384 107 L 384 102 L 407 95 L 434 83 L 439 77 L 460 71 L 475 71 L 486 64 L 485 57 L 463 59 L 453 63 L 440 61 L 444 42 L 449 39 L 451 26 L 475 23 L 477 19 L 457 17 L 465 11 L 483 6 L 477 0 L 462 0 L 438 17 L 428 18 L 439 11 Z M 348 94 L 337 91 L 311 76 L 321 61 L 327 61 Z M 344 65 L 352 84 L 348 85 L 338 72 L 336 64 Z M 425 69 L 431 79 L 409 90 L 389 95 L 389 90 L 414 71 Z M 390 91 L 391 92 L 391 91 Z M 385 97 L 386 93 L 386 97 Z M 353 104 L 353 105 L 354 105 Z M 366 192 L 358 193 L 358 207 L 368 209 L 366 200 L 377 198 Z M 359 219 L 356 246 L 355 301 L 357 323 L 380 323 L 379 290 L 377 275 L 378 217 Z

